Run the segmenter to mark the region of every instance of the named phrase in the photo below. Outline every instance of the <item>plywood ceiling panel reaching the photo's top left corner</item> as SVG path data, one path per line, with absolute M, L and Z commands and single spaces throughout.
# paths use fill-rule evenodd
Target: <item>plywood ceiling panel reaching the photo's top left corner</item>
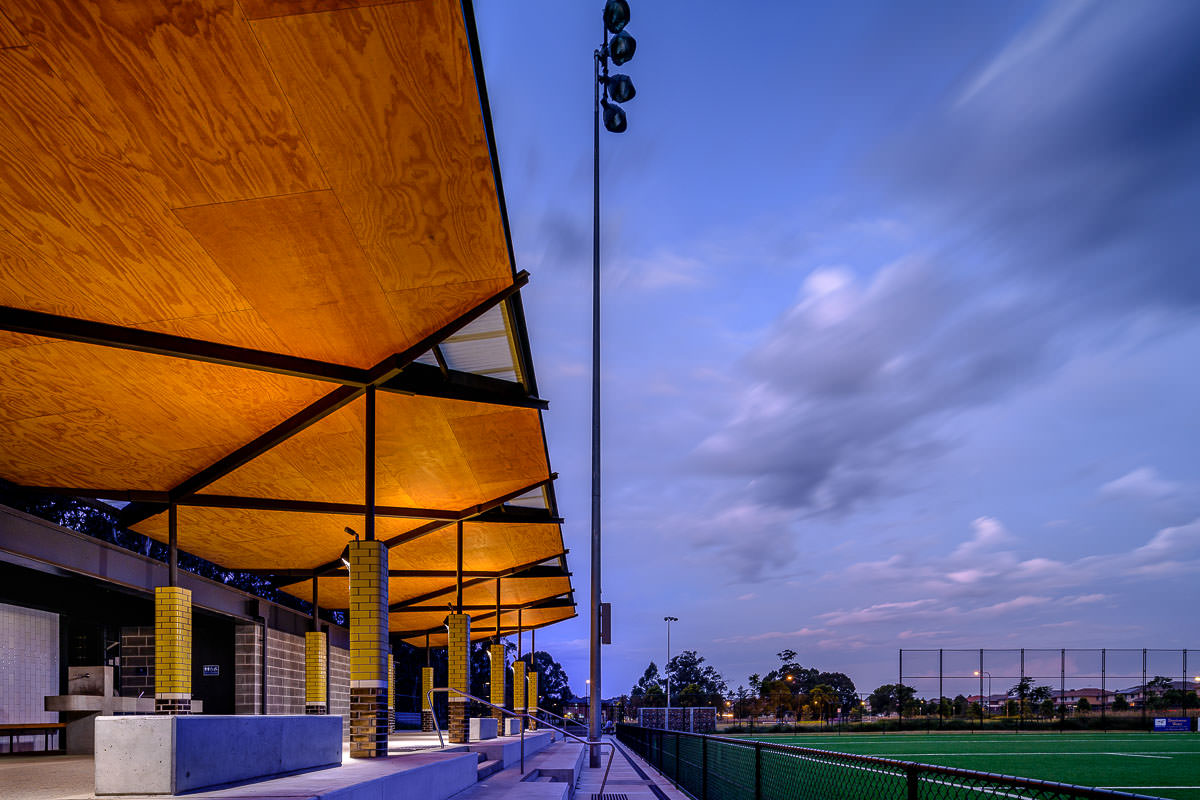
M 326 188 L 239 4 L 6 0 L 167 207 Z

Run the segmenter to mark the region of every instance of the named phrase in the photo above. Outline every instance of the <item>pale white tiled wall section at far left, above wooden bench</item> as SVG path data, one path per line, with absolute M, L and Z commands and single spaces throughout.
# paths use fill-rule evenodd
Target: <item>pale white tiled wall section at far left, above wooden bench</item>
M 56 722 L 42 698 L 58 693 L 59 615 L 0 603 L 0 722 Z M 13 750 L 42 750 L 42 739 L 17 736 Z M 0 752 L 8 752 L 8 736 Z

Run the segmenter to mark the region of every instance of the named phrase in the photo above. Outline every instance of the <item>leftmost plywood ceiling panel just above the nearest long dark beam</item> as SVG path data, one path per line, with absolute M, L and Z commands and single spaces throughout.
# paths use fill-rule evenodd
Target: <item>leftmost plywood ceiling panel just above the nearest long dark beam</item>
M 115 324 L 246 311 L 162 176 L 37 48 L 0 50 L 0 305 Z

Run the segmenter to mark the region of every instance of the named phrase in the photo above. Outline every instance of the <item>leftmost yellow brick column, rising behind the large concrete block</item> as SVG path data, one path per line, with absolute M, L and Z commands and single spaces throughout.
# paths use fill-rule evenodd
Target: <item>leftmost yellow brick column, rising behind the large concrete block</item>
M 192 593 L 154 590 L 154 710 L 192 712 Z

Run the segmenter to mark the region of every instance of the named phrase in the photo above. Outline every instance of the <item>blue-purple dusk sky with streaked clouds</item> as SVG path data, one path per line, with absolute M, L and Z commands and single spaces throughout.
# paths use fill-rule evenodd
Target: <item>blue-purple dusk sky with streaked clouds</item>
M 731 688 L 784 649 L 863 692 L 901 648 L 1200 649 L 1200 4 L 630 5 L 604 694 L 664 615 Z M 538 648 L 582 693 L 602 2 L 515 8 L 475 0 L 581 613 Z

